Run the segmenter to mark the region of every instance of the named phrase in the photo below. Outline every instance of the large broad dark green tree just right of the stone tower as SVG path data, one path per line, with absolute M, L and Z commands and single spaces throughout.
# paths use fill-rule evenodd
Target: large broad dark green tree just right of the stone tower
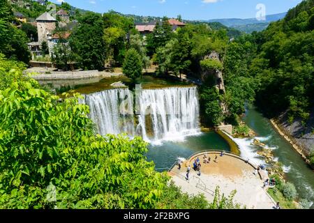
M 70 48 L 75 61 L 85 70 L 101 70 L 105 66 L 105 49 L 103 41 L 103 18 L 97 13 L 86 13 L 80 17 L 79 25 L 70 36 Z

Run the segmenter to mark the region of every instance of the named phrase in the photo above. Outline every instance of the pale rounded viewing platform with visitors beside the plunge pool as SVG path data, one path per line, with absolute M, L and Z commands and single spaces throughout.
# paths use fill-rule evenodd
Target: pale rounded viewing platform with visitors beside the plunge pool
M 220 195 L 229 194 L 237 190 L 234 201 L 246 208 L 271 209 L 276 206 L 273 199 L 263 188 L 264 171 L 257 171 L 257 166 L 239 155 L 221 151 L 204 151 L 192 155 L 181 163 L 181 169 L 176 164 L 169 171 L 175 185 L 181 187 L 188 194 L 204 194 L 211 202 L 214 199 L 216 187 L 220 187 Z M 217 159 L 215 161 L 215 158 Z M 208 162 L 210 157 L 210 161 Z M 201 174 L 193 169 L 194 161 L 199 158 Z M 190 166 L 189 179 L 186 179 L 186 171 Z

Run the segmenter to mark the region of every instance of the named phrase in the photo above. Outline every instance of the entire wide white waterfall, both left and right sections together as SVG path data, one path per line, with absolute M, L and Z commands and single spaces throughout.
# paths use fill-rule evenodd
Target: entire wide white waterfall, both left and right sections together
M 84 95 L 90 118 L 100 134 L 140 135 L 145 141 L 160 142 L 183 139 L 200 132 L 199 102 L 196 87 L 144 89 L 136 93 L 112 89 Z M 136 123 L 136 124 L 135 124 Z

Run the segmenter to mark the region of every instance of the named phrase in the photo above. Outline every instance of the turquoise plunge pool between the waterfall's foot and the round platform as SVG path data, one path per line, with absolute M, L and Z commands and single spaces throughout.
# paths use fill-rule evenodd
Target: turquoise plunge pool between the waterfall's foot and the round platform
M 166 141 L 161 145 L 150 145 L 147 160 L 154 161 L 156 169 L 163 171 L 172 167 L 178 157 L 187 159 L 193 153 L 206 150 L 230 151 L 230 147 L 216 132 L 204 132 L 186 137 L 184 141 Z

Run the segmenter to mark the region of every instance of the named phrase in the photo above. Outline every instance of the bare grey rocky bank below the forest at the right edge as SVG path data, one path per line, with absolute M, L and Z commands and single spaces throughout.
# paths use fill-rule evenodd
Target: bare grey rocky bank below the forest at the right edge
M 281 114 L 276 119 L 276 123 L 281 131 L 291 139 L 292 143 L 301 149 L 304 155 L 308 156 L 314 151 L 314 108 L 305 127 L 300 119 L 290 123 L 287 118 L 287 112 Z

